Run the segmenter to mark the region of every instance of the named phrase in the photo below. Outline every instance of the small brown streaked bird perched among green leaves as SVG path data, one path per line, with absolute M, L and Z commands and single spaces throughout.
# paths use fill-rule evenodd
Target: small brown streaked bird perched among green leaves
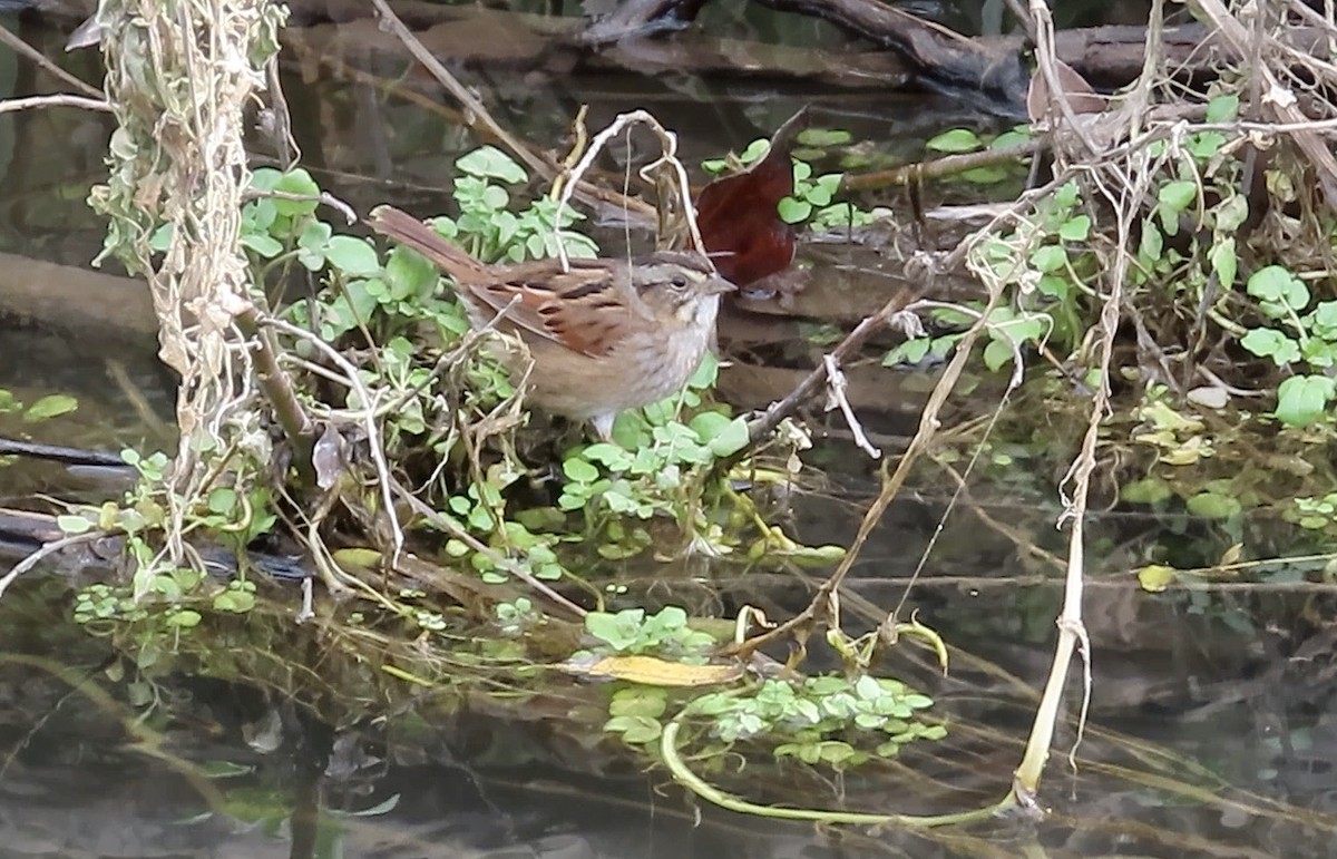
M 603 440 L 619 413 L 683 389 L 714 344 L 719 297 L 737 289 L 695 252 L 485 264 L 393 206 L 368 225 L 448 274 L 475 328 L 495 322 L 524 341 L 529 403 L 588 421 Z M 524 372 L 516 349 L 495 355 Z

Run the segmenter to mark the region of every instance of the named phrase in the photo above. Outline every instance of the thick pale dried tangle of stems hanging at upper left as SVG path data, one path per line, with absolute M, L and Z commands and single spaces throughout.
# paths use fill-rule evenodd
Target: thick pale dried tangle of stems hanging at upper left
M 91 202 L 111 218 L 108 250 L 147 278 L 160 356 L 180 375 L 166 542 L 180 563 L 186 508 L 230 459 L 239 462 L 235 454 L 251 463 L 270 455 L 250 408 L 250 355 L 235 318 L 250 308 L 239 241 L 250 181 L 243 115 L 265 88 L 263 58 L 277 48 L 282 12 L 267 0 L 114 0 L 99 15 L 119 127 L 108 183 Z M 170 238 L 155 260 L 163 225 Z

